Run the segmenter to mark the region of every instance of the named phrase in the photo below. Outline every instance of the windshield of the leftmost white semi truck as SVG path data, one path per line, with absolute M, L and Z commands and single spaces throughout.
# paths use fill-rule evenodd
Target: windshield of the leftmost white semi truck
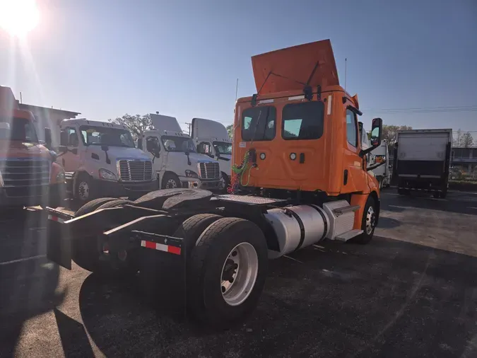
M 90 145 L 126 146 L 135 148 L 131 133 L 126 129 L 112 127 L 92 127 L 82 125 L 80 127 L 83 143 Z

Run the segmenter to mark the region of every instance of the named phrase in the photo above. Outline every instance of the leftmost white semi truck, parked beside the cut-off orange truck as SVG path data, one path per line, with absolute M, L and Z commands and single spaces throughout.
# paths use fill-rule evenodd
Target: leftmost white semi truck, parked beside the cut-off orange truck
M 97 197 L 140 197 L 158 189 L 151 158 L 136 149 L 124 125 L 74 119 L 62 120 L 59 129 L 57 163 L 64 167 L 70 197 L 84 203 Z

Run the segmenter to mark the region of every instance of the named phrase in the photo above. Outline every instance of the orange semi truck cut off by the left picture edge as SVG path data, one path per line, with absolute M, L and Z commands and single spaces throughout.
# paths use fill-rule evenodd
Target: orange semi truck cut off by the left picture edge
M 0 86 L 0 209 L 59 206 L 64 198 L 64 170 L 55 163 L 51 132 L 40 144 L 33 114 L 18 108 L 11 88 Z

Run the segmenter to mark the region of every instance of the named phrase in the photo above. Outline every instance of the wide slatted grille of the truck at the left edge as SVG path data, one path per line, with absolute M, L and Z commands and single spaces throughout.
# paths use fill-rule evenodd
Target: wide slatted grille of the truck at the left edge
M 1 178 L 8 197 L 38 195 L 44 185 L 49 185 L 50 162 L 45 159 L 6 159 L 0 161 Z

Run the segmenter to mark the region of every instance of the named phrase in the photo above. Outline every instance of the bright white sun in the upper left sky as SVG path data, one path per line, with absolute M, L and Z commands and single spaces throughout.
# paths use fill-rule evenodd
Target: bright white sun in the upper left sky
M 0 28 L 10 35 L 25 37 L 39 20 L 35 0 L 0 0 Z

